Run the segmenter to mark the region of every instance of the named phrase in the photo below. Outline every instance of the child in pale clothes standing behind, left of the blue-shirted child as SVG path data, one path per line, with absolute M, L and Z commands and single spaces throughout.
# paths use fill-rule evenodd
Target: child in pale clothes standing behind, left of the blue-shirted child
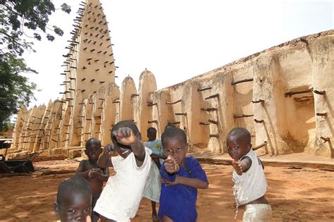
M 151 159 L 155 164 L 151 166 L 151 170 L 149 171 L 149 178 L 144 189 L 144 197 L 151 200 L 152 220 L 159 221 L 158 215 L 156 214 L 156 202 L 159 203 L 161 192 L 161 176 L 159 169 L 163 159 L 166 159 L 166 156 L 163 155 L 161 140 L 156 139 L 155 128 L 150 127 L 147 129 L 147 137 L 149 138 L 149 141 L 144 142 L 144 146 L 151 149 Z

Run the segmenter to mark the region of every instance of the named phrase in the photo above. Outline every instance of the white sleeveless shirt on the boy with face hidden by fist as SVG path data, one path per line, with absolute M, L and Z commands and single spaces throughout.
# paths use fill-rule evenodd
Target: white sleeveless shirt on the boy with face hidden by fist
M 97 200 L 94 211 L 114 221 L 130 221 L 135 217 L 151 168 L 151 150 L 145 147 L 146 155 L 138 167 L 133 152 L 127 158 L 111 157 L 116 175 L 109 178 Z

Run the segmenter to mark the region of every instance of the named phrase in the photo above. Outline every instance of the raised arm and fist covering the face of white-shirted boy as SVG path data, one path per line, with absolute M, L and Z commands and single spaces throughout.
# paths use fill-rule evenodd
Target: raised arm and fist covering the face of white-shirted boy
M 123 127 L 113 131 L 113 136 L 116 137 L 117 142 L 131 147 L 137 166 L 142 166 L 145 159 L 145 147 L 140 140 L 137 139 L 131 128 Z

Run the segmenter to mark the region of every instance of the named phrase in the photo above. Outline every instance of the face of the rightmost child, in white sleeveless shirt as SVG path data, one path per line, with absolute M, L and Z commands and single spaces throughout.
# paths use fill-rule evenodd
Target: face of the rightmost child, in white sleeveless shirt
M 226 140 L 228 148 L 228 154 L 230 157 L 239 160 L 242 156 L 245 156 L 252 148 L 252 145 L 247 142 L 245 137 L 228 137 Z

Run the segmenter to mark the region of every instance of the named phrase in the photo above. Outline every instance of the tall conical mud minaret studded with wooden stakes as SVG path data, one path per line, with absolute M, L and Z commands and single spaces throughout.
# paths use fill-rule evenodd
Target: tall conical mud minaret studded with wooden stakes
M 115 82 L 115 63 L 106 16 L 98 0 L 83 2 L 74 19 L 69 53 L 64 55 L 63 82 L 67 100 L 82 92 L 82 98 L 97 91 L 101 85 Z

